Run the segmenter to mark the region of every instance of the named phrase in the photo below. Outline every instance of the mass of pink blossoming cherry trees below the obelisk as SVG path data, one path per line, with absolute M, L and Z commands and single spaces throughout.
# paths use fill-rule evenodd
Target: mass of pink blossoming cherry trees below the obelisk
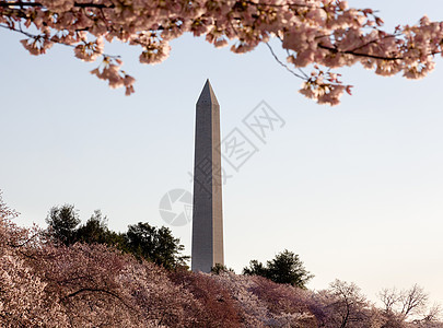
M 417 285 L 383 291 L 385 308 L 376 308 L 353 283 L 315 292 L 257 276 L 167 271 L 101 244 L 54 244 L 15 216 L 0 192 L 1 327 L 443 327 Z

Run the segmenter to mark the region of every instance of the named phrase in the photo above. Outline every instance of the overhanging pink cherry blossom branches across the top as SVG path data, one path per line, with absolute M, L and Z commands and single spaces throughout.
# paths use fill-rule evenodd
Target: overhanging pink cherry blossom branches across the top
M 32 55 L 62 44 L 81 60 L 102 58 L 91 73 L 110 87 L 125 86 L 127 95 L 135 79 L 120 69 L 119 57 L 105 55 L 105 40 L 139 46 L 140 62 L 151 65 L 166 59 L 170 42 L 186 32 L 237 54 L 265 43 L 303 79 L 303 95 L 330 105 L 351 87 L 330 69 L 360 62 L 380 75 L 420 79 L 434 68 L 443 23 L 423 16 L 393 32 L 382 25 L 373 10 L 342 0 L 0 0 L 0 27 L 24 34 L 21 43 Z M 279 39 L 285 63 L 269 46 L 271 38 Z M 311 74 L 301 70 L 306 67 Z

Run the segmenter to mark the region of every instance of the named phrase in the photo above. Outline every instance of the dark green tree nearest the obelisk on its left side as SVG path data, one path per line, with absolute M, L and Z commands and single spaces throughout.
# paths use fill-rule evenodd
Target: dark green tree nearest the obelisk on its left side
M 166 269 L 186 266 L 187 256 L 180 256 L 185 248 L 179 239 L 165 226 L 160 229 L 139 222 L 128 226 L 125 234 L 126 248 L 139 259 L 153 261 Z

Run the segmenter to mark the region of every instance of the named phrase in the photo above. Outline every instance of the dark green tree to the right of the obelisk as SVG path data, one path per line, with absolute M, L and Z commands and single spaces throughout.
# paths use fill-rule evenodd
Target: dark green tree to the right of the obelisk
M 289 283 L 302 289 L 306 289 L 306 283 L 314 277 L 304 268 L 300 257 L 288 249 L 268 260 L 266 267 L 252 260 L 249 267 L 243 269 L 243 274 L 261 276 L 277 283 Z

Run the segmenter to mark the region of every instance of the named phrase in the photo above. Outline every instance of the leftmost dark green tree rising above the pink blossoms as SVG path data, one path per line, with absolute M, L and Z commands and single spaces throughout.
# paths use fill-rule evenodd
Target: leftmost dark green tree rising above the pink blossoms
M 46 218 L 47 236 L 57 244 L 69 246 L 75 243 L 75 227 L 80 223 L 79 213 L 72 204 L 54 207 Z

